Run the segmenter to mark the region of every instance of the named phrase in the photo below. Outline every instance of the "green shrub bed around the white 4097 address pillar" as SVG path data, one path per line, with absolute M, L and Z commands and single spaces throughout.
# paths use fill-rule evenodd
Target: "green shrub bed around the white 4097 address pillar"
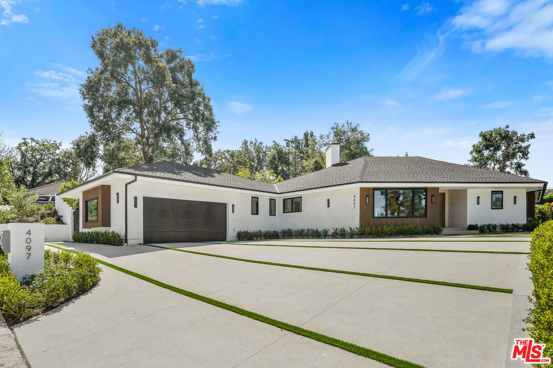
M 44 269 L 21 282 L 0 256 L 0 309 L 8 326 L 52 310 L 92 289 L 100 281 L 100 266 L 86 253 L 44 250 Z

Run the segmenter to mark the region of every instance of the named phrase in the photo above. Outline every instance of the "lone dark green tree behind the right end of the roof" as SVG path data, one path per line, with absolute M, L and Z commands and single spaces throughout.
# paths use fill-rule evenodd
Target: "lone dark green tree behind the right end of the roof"
M 528 177 L 523 161 L 530 155 L 530 144 L 526 143 L 536 137 L 533 132 L 519 134 L 505 125 L 482 131 L 479 136 L 480 141 L 472 145 L 472 166 Z

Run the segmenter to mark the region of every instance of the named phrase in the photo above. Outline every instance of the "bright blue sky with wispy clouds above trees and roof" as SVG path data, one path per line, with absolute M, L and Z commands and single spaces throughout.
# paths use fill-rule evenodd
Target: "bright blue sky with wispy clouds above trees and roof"
M 553 1 L 0 0 L 0 130 L 69 144 L 98 29 L 184 47 L 221 122 L 214 148 L 326 132 L 346 119 L 376 156 L 466 163 L 481 130 L 534 131 L 553 183 Z

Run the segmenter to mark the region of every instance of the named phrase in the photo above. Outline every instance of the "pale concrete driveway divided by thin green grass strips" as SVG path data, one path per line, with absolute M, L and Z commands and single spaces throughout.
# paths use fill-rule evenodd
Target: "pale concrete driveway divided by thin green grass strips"
M 148 246 L 58 245 L 429 368 L 511 364 L 507 351 L 514 338 L 524 337 L 521 318 L 528 307 L 525 295 L 531 290 L 524 269 L 526 255 L 311 248 L 343 244 L 528 250 L 524 237 L 513 237 L 517 242 L 505 241 L 511 238 L 421 239 L 162 245 L 266 262 L 502 287 L 514 289 L 514 294 L 286 268 Z M 101 284 L 87 295 L 14 328 L 33 367 L 383 366 L 119 271 L 103 270 Z

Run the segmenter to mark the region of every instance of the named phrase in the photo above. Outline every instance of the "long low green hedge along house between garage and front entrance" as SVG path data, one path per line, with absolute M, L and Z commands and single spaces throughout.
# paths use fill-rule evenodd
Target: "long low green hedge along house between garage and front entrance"
M 238 240 L 255 239 L 302 239 L 302 238 L 322 238 L 328 236 L 332 238 L 368 238 L 383 236 L 411 236 L 411 235 L 431 235 L 440 234 L 444 229 L 440 225 L 435 226 L 381 226 L 381 227 L 345 227 L 333 228 L 332 232 L 328 229 L 283 229 L 283 230 L 241 230 L 236 233 Z

